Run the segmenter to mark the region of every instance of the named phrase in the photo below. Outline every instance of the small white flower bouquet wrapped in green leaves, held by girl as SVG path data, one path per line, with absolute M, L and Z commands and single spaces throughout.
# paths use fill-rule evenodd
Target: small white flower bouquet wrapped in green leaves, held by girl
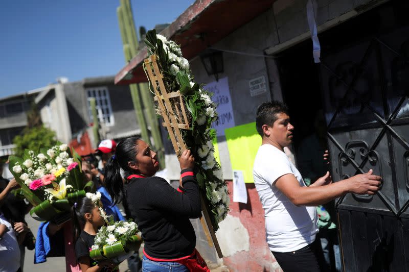
M 89 257 L 94 260 L 110 259 L 115 263 L 121 263 L 138 250 L 141 244 L 141 238 L 137 235 L 138 227 L 132 221 L 110 224 L 99 229 Z

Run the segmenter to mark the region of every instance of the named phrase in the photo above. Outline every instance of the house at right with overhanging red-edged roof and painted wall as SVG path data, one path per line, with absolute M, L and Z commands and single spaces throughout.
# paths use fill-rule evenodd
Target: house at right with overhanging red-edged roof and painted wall
M 293 153 L 303 138 L 315 132 L 315 116 L 323 111 L 334 180 L 370 167 L 384 177 L 380 193 L 373 198 L 347 195 L 336 202 L 343 267 L 345 271 L 381 266 L 403 271 L 407 265 L 396 251 L 405 250 L 407 245 L 399 241 L 408 239 L 405 60 L 409 20 L 405 14 L 409 6 L 383 0 L 315 0 L 312 8 L 309 3 L 196 1 L 161 34 L 181 44 L 195 81 L 205 86 L 217 86 L 217 81 L 208 75 L 200 54 L 209 46 L 223 54 L 224 71 L 218 78 L 227 81 L 223 88 L 234 118 L 234 125 L 217 137 L 226 180 L 233 179 L 234 170 L 252 169 L 235 158 L 251 157 L 254 147 L 244 144 L 240 154 L 229 145 L 236 139 L 228 132 L 253 123 L 260 103 L 279 100 L 290 107 L 296 127 Z M 313 59 L 311 13 L 321 44 L 320 63 Z M 118 73 L 116 83 L 145 81 L 140 66 L 145 57 L 141 51 Z M 255 139 L 245 133 L 236 136 Z M 166 144 L 165 148 L 170 179 L 177 179 L 172 148 Z M 247 204 L 232 202 L 229 217 L 217 232 L 223 260 L 206 245 L 199 225 L 195 226 L 197 246 L 211 263 L 224 263 L 231 271 L 278 271 L 265 243 L 264 212 L 257 191 L 252 180 L 245 181 Z M 234 194 L 231 182 L 229 189 Z

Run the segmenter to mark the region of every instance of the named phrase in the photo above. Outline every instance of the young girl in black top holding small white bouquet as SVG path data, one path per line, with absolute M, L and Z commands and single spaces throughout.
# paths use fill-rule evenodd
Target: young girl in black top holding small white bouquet
M 75 253 L 82 272 L 119 271 L 112 269 L 116 264 L 111 261 L 97 262 L 89 257 L 98 228 L 104 225 L 104 218 L 98 206 L 88 197 L 83 197 L 73 206 Z

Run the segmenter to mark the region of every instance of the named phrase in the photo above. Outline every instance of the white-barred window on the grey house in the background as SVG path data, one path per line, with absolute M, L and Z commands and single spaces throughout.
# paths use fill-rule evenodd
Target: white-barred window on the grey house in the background
M 91 112 L 91 106 L 89 98 L 95 97 L 98 120 L 105 123 L 106 126 L 113 126 L 115 120 L 113 119 L 113 113 L 111 108 L 111 101 L 109 99 L 109 92 L 106 87 L 88 88 L 87 103 L 88 103 L 88 115 L 91 122 L 94 122 L 93 114 Z

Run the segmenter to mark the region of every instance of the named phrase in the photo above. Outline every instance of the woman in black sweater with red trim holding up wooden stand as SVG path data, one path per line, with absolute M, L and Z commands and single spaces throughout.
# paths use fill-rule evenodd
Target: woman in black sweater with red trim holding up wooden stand
M 193 174 L 194 158 L 185 151 L 180 159 L 177 190 L 153 177 L 159 168 L 156 153 L 139 138 L 117 145 L 105 166 L 105 185 L 115 203 L 126 197 L 132 217 L 145 242 L 144 271 L 210 271 L 195 250 L 196 235 L 189 218 L 201 214 L 199 187 Z M 126 190 L 120 174 L 128 182 Z

